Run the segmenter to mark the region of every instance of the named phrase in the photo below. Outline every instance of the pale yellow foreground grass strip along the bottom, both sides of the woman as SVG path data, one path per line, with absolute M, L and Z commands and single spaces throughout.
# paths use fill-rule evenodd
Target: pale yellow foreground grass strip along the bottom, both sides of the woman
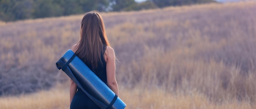
M 0 109 L 69 109 L 68 86 L 57 85 L 49 91 L 29 95 L 2 97 Z M 126 109 L 255 109 L 249 102 L 212 103 L 206 96 L 191 92 L 171 94 L 161 89 L 119 88 Z

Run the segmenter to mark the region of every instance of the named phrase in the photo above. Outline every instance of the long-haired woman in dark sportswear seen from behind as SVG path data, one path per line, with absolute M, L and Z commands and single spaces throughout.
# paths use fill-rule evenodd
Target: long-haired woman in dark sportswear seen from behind
M 72 51 L 118 96 L 115 78 L 115 52 L 108 42 L 103 19 L 96 11 L 83 16 L 80 41 Z M 100 109 L 70 80 L 70 109 Z

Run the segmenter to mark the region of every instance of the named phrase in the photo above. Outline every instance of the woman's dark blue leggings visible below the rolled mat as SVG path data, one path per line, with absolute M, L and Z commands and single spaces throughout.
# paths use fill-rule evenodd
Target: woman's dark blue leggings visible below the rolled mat
M 81 89 L 78 88 L 70 109 L 101 109 Z

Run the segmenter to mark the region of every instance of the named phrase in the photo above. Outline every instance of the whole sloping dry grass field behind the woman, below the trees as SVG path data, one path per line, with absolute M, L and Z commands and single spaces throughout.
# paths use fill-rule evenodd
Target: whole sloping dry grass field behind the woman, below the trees
M 256 2 L 101 13 L 126 109 L 256 109 Z M 68 109 L 83 15 L 0 22 L 0 109 Z

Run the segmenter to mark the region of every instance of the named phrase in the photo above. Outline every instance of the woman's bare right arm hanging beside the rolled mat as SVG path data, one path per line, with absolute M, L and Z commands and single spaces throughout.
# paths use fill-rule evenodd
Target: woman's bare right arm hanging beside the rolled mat
M 119 94 L 118 85 L 117 85 L 117 80 L 115 76 L 115 72 L 116 72 L 115 51 L 109 46 L 107 46 L 106 51 L 107 51 L 106 52 L 107 54 L 106 71 L 107 71 L 108 87 L 112 91 L 114 91 L 118 96 Z

